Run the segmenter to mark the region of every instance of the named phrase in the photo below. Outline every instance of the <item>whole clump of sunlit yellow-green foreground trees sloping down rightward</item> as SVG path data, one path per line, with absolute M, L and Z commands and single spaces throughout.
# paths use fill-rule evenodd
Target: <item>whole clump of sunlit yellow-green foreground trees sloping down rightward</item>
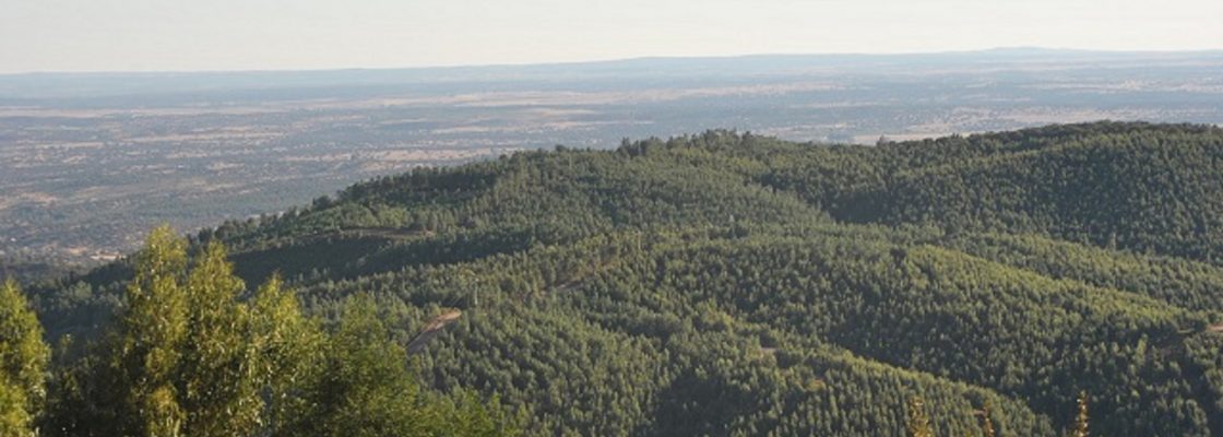
M 168 226 L 133 267 L 115 331 L 60 373 L 50 435 L 411 436 L 450 416 L 511 426 L 426 402 L 372 302 L 325 335 L 279 278 L 246 296 L 219 242 L 188 257 Z

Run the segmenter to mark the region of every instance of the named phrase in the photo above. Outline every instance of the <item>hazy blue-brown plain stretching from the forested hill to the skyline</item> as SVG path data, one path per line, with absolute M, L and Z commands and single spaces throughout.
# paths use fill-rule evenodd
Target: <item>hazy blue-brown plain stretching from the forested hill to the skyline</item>
M 276 213 L 522 149 L 737 129 L 873 144 L 1223 122 L 1223 53 L 997 49 L 530 66 L 0 76 L 0 253 L 92 264 L 149 226 Z

